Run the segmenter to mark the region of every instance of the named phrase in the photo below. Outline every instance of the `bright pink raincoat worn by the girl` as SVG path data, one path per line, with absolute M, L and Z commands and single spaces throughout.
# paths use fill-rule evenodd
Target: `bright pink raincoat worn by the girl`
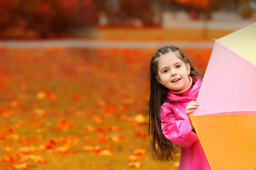
M 161 106 L 160 116 L 167 120 L 162 120 L 162 130 L 167 139 L 181 147 L 179 170 L 211 170 L 198 136 L 191 131 L 190 120 L 186 116 L 186 106 L 190 101 L 196 100 L 201 87 L 201 80 L 198 78 L 193 78 L 193 82 L 195 84 L 192 84 L 188 96 L 168 92 L 167 98 L 173 101 L 174 106 L 168 102 Z

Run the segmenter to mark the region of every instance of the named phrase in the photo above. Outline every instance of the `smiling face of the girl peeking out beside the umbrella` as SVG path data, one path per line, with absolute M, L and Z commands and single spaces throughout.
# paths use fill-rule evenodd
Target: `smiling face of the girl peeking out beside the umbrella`
M 190 65 L 180 60 L 176 53 L 160 57 L 157 72 L 157 81 L 172 91 L 183 91 L 189 86 Z

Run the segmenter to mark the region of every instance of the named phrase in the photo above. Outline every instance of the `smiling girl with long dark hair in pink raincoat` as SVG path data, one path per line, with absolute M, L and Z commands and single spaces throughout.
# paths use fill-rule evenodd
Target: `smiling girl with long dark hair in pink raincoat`
M 149 134 L 153 155 L 173 160 L 181 147 L 179 170 L 211 170 L 189 114 L 204 75 L 175 46 L 159 48 L 150 64 Z

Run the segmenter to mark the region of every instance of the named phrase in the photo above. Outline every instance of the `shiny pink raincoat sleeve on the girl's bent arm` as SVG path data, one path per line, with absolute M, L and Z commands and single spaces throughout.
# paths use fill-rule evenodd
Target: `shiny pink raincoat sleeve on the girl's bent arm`
M 174 144 L 190 147 L 193 142 L 199 140 L 197 134 L 191 130 L 189 117 L 177 118 L 176 114 L 166 106 L 161 107 L 160 115 L 163 135 Z

